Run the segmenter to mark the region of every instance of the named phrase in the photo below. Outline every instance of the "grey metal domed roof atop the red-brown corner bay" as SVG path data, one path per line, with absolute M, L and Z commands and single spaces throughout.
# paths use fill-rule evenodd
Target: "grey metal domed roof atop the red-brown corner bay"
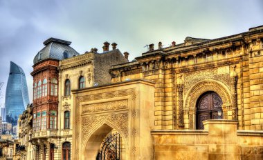
M 79 55 L 77 51 L 69 45 L 71 41 L 50 38 L 44 41 L 45 47 L 40 50 L 34 58 L 34 64 L 44 59 L 62 60 Z

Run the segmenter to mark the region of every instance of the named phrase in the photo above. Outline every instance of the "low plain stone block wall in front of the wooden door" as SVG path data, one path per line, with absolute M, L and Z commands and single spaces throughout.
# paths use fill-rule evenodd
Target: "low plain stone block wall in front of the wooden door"
M 237 130 L 237 121 L 208 120 L 205 130 L 154 130 L 154 159 L 262 159 L 263 132 Z

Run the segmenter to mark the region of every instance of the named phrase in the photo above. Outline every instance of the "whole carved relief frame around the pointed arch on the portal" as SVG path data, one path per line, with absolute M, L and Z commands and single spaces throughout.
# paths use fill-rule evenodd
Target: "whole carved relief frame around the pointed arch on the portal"
M 129 98 L 127 99 L 128 96 Z M 115 97 L 125 97 L 118 101 L 109 101 Z M 100 102 L 98 101 L 105 102 Z M 136 118 L 138 117 L 138 111 L 136 110 L 135 105 L 136 99 L 136 90 L 118 90 L 114 92 L 105 92 L 99 94 L 88 94 L 82 97 L 76 97 L 75 102 L 75 155 L 80 154 L 79 144 L 83 146 L 87 143 L 88 137 L 93 134 L 92 132 L 96 127 L 98 127 L 99 123 L 109 123 L 111 127 L 120 131 L 123 134 L 123 138 L 130 139 L 131 141 L 131 154 L 136 155 Z M 83 104 L 82 102 L 91 104 Z M 96 102 L 97 101 L 97 102 Z M 81 106 L 81 107 L 80 107 Z M 129 109 L 129 110 L 128 110 Z M 123 111 L 127 110 L 127 111 Z M 104 112 L 102 114 L 103 111 Z M 111 112 L 113 111 L 113 112 Z M 109 114 L 111 112 L 111 114 Z M 82 114 L 83 113 L 83 114 Z M 92 113 L 92 114 L 91 114 Z M 131 114 L 131 117 L 129 117 Z M 130 118 L 130 120 L 129 120 Z M 131 126 L 128 126 L 128 122 L 132 121 Z M 81 126 L 81 127 L 80 127 Z M 129 131 L 130 129 L 130 131 Z M 128 135 L 131 132 L 131 135 Z M 127 140 L 128 142 L 128 140 Z M 84 152 L 84 150 L 82 150 Z

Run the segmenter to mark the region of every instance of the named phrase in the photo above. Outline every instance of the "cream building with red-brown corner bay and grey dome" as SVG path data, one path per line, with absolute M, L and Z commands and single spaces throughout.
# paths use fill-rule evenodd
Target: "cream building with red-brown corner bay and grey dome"
M 71 90 L 111 83 L 112 65 L 127 63 L 127 59 L 112 43 L 105 42 L 102 53 L 96 48 L 79 54 L 60 39 L 44 41 L 45 47 L 34 59 L 32 146 L 27 155 L 33 159 L 70 159 L 73 128 L 73 98 Z M 21 117 L 21 121 L 24 121 Z M 27 123 L 27 122 L 26 122 Z M 23 123 L 27 126 L 26 123 Z M 30 123 L 28 121 L 28 123 Z M 21 127 L 21 138 L 28 139 Z M 26 143 L 26 141 L 25 141 Z M 29 146 L 29 144 L 28 144 Z

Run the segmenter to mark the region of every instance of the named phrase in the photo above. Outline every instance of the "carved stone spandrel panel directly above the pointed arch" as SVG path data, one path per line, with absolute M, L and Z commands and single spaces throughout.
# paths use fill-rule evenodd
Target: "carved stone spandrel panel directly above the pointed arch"
M 98 116 L 89 116 L 89 117 L 82 117 L 82 134 L 81 134 L 81 141 L 82 145 L 86 141 L 88 135 L 90 134 L 91 130 L 95 128 L 98 123 L 102 121 L 107 121 L 116 128 L 118 128 L 121 132 L 123 132 L 125 138 L 128 137 L 128 113 L 122 114 L 108 114 L 108 115 L 98 115 Z

